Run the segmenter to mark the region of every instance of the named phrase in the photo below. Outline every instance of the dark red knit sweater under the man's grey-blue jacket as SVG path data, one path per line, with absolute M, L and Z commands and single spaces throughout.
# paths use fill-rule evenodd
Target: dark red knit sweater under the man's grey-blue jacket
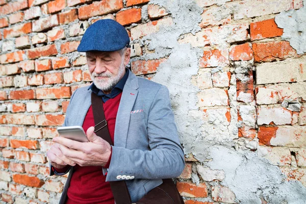
M 107 127 L 114 142 L 115 122 L 122 93 L 111 98 L 103 104 Z M 94 126 L 92 107 L 88 109 L 83 129 Z M 67 193 L 67 204 L 77 203 L 104 203 L 114 204 L 114 197 L 109 182 L 102 173 L 101 166 L 74 166 L 74 173 L 71 178 Z

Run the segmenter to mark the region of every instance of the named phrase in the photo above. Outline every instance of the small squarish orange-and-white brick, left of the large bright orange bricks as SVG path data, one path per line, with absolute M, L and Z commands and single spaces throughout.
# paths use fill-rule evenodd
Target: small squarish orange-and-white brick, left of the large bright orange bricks
M 248 43 L 233 45 L 230 49 L 230 59 L 233 61 L 247 61 L 253 59 L 253 50 Z

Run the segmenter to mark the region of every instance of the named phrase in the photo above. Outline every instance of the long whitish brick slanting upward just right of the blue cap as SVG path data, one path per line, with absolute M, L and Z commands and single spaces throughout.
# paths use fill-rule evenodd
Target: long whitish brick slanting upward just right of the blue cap
M 138 39 L 143 36 L 156 33 L 159 31 L 161 26 L 172 25 L 172 18 L 167 17 L 156 21 L 147 22 L 145 24 L 137 25 L 134 28 L 131 28 L 131 36 L 133 39 Z

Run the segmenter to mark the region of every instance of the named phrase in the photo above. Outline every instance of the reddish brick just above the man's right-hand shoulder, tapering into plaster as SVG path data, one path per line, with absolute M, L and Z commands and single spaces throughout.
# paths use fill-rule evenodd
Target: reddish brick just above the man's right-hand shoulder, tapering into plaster
M 138 60 L 132 62 L 132 72 L 136 75 L 140 74 L 148 74 L 148 73 L 155 73 L 157 70 L 157 67 L 165 62 L 166 59 L 162 58 L 159 60 Z

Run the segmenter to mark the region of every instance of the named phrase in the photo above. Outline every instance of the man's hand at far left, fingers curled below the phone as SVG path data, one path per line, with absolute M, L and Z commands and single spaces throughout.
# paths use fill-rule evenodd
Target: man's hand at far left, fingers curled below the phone
M 51 148 L 47 151 L 47 157 L 49 158 L 50 163 L 52 166 L 55 168 L 61 169 L 66 167 L 67 165 L 74 166 L 75 163 L 72 162 L 71 160 L 67 159 L 61 149 L 60 145 L 58 143 L 55 143 L 54 145 L 51 146 Z

